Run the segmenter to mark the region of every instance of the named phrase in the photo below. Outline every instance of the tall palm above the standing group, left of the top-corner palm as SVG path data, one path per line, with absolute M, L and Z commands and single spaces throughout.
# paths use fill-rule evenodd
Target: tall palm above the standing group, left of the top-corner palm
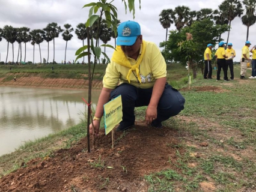
M 219 10 L 222 11 L 223 16 L 228 19 L 228 25 L 231 28 L 231 21 L 236 17 L 240 17 L 243 14 L 242 4 L 239 0 L 225 0 L 219 5 Z M 230 29 L 228 29 L 228 38 L 230 37 Z M 228 43 L 227 38 L 227 43 Z

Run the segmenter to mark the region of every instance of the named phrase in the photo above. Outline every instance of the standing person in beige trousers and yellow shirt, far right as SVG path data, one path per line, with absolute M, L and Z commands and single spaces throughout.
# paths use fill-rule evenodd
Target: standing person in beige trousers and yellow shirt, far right
M 251 46 L 250 41 L 245 42 L 245 46 L 242 49 L 242 59 L 240 61 L 241 71 L 240 71 L 240 79 L 245 79 L 245 74 L 247 70 L 247 64 L 250 62 L 250 51 L 249 47 Z

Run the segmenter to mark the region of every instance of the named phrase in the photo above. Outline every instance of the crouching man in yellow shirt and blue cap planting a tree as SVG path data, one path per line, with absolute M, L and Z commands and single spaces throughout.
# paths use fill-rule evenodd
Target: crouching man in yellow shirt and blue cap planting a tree
M 142 40 L 141 27 L 133 21 L 123 22 L 117 29 L 117 48 L 106 67 L 103 88 L 90 134 L 99 134 L 103 105 L 121 95 L 123 120 L 117 131 L 135 124 L 135 107 L 147 106 L 145 122 L 151 127 L 162 127 L 162 121 L 178 115 L 185 99 L 166 83 L 166 63 L 156 44 Z

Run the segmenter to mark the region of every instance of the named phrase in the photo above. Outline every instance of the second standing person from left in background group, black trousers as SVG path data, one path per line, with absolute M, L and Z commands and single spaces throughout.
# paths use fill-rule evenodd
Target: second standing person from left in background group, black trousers
M 225 42 L 221 41 L 219 42 L 219 49 L 216 51 L 215 56 L 217 60 L 217 65 L 218 65 L 218 70 L 217 70 L 217 80 L 221 80 L 221 68 L 223 69 L 224 72 L 224 80 L 225 82 L 229 82 L 230 80 L 228 79 L 228 65 L 226 64 L 226 52 L 225 52 Z

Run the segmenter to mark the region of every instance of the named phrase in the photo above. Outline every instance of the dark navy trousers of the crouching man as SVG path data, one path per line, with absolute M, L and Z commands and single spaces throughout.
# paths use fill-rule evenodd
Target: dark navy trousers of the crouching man
M 123 104 L 123 121 L 120 124 L 133 125 L 135 122 L 134 109 L 135 107 L 148 106 L 150 103 L 153 88 L 141 89 L 136 88 L 128 83 L 122 83 L 117 86 L 110 95 L 112 98 L 122 96 Z M 157 105 L 157 121 L 162 122 L 169 119 L 171 116 L 178 115 L 184 109 L 185 99 L 168 83 L 165 84 L 165 89 L 160 97 Z

